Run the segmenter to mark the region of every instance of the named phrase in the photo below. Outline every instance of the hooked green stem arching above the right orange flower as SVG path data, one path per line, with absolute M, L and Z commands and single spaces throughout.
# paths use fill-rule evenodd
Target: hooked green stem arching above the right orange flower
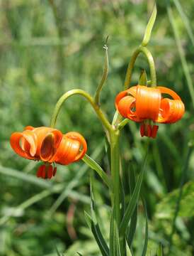
M 135 61 L 139 55 L 139 53 L 143 53 L 145 57 L 147 58 L 147 61 L 149 63 L 149 69 L 150 69 L 150 74 L 151 74 L 151 85 L 156 86 L 156 69 L 154 65 L 154 58 L 152 57 L 152 53 L 144 47 L 144 46 L 139 46 L 137 50 L 132 55 L 132 58 L 130 60 L 130 63 L 127 68 L 127 73 L 125 77 L 125 84 L 124 84 L 124 89 L 127 90 L 128 87 L 130 86 L 131 78 L 132 78 L 132 69 L 135 65 Z

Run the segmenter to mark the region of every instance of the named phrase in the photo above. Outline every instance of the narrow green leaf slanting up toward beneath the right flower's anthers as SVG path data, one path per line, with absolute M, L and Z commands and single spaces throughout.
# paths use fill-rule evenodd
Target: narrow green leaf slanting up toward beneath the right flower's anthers
M 127 206 L 127 209 L 125 210 L 125 215 L 122 218 L 122 221 L 120 223 L 120 234 L 124 235 L 125 234 L 125 230 L 127 229 L 127 225 L 130 222 L 130 218 L 132 217 L 132 214 L 134 213 L 135 210 L 135 206 L 137 205 L 138 199 L 139 199 L 139 192 L 142 186 L 142 181 L 143 181 L 143 177 L 144 177 L 144 169 L 146 166 L 146 162 L 147 162 L 147 154 L 146 157 L 144 159 L 144 164 L 142 166 L 142 170 L 139 174 L 139 178 L 137 180 L 136 186 L 135 186 L 135 190 L 132 193 L 132 198 L 130 200 L 130 203 Z

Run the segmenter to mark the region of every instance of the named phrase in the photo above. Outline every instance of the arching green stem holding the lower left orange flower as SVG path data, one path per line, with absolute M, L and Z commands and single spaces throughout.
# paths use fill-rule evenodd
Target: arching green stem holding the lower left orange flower
M 79 89 L 69 90 L 68 92 L 64 93 L 64 95 L 62 95 L 62 97 L 59 98 L 59 100 L 57 101 L 57 104 L 55 105 L 55 110 L 52 114 L 52 118 L 50 121 L 50 127 L 55 127 L 55 124 L 57 122 L 57 117 L 58 117 L 59 111 L 62 107 L 62 104 L 69 97 L 71 97 L 73 95 L 81 95 L 81 96 L 85 97 L 86 100 L 88 100 L 88 102 L 93 107 L 93 110 L 96 112 L 96 114 L 97 114 L 98 118 L 101 120 L 101 123 L 103 124 L 103 126 L 108 131 L 112 130 L 111 124 L 108 122 L 108 119 L 103 114 L 101 108 L 98 107 L 98 105 L 96 105 L 96 103 L 93 101 L 93 97 L 91 97 L 91 95 L 89 95 L 89 93 L 85 92 L 84 90 L 79 90 Z

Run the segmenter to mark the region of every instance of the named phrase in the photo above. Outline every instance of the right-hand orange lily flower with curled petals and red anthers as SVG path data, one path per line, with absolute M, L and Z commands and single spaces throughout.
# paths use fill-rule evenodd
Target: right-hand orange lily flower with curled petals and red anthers
M 163 97 L 169 95 L 171 99 Z M 185 107 L 181 98 L 166 87 L 137 85 L 120 92 L 115 106 L 122 117 L 142 123 L 141 136 L 155 138 L 159 129 L 152 122 L 168 124 L 177 122 L 183 116 Z

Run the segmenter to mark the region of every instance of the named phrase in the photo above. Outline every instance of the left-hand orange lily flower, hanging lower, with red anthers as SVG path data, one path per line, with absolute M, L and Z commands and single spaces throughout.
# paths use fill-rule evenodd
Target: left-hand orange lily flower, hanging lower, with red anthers
M 43 161 L 37 176 L 52 178 L 57 167 L 55 163 L 67 165 L 84 157 L 87 144 L 78 132 L 62 134 L 50 127 L 25 127 L 23 132 L 11 134 L 10 143 L 16 154 L 25 159 Z

